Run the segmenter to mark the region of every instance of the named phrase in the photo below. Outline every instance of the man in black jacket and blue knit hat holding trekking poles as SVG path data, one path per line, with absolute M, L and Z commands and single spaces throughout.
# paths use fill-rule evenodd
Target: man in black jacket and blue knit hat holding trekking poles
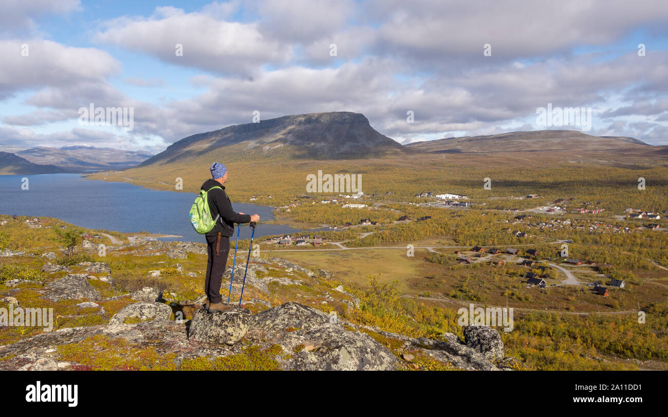
M 225 272 L 227 264 L 227 255 L 230 253 L 230 236 L 234 233 L 234 223 L 249 223 L 260 221 L 259 215 L 244 215 L 244 213 L 234 213 L 232 203 L 225 192 L 223 185 L 227 181 L 227 168 L 214 162 L 211 164 L 212 179 L 206 180 L 202 184 L 202 190 L 208 192 L 208 203 L 211 210 L 212 219 L 220 218 L 216 225 L 206 237 L 208 261 L 206 262 L 206 281 L 204 281 L 204 293 L 206 293 L 206 308 L 210 313 L 217 313 L 223 310 L 220 295 L 220 284 L 222 275 Z M 219 186 L 222 189 L 212 187 Z

